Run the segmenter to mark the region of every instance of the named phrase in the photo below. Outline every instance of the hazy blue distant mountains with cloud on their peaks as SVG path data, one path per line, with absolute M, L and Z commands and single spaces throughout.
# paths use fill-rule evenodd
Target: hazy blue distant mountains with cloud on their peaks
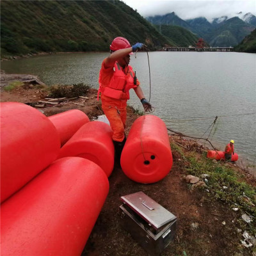
M 212 47 L 230 47 L 239 44 L 256 28 L 256 17 L 252 13 L 237 13 L 237 17 L 216 17 L 209 22 L 205 17 L 182 20 L 175 12 L 146 17 L 152 24 L 176 25 L 188 29 Z

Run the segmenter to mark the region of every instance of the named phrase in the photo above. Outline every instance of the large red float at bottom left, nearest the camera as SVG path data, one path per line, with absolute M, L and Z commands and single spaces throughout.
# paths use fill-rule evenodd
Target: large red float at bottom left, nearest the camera
M 108 190 L 92 161 L 55 161 L 1 205 L 1 255 L 81 255 Z

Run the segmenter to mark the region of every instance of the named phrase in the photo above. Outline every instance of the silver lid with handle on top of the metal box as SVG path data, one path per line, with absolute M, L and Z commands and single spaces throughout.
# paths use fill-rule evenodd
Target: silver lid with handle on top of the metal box
M 172 212 L 157 204 L 157 202 L 142 191 L 121 196 L 121 200 L 156 230 L 163 227 L 166 223 L 177 219 Z

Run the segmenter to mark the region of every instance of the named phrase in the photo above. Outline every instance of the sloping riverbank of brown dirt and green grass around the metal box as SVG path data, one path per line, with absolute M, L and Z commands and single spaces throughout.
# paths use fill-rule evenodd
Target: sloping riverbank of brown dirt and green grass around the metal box
M 1 102 L 17 101 L 33 106 L 49 94 L 49 90 L 40 84 L 21 84 L 10 91 L 1 92 Z M 90 120 L 103 114 L 97 101 L 97 90 L 93 89 L 85 97 L 67 100 L 59 106 L 38 108 L 46 116 L 69 109 L 83 111 Z M 138 116 L 134 109 L 128 108 L 127 135 Z M 196 141 L 170 136 L 170 144 L 172 170 L 155 184 L 133 182 L 115 166 L 109 177 L 108 198 L 82 255 L 147 255 L 121 227 L 118 211 L 120 196 L 138 191 L 143 191 L 177 216 L 175 239 L 162 255 L 256 255 L 256 230 L 253 224 L 256 221 L 255 178 L 232 163 L 206 159 L 207 148 Z M 199 177 L 200 186 L 188 183 L 187 175 Z M 250 216 L 250 223 L 244 221 L 244 214 Z M 250 240 L 245 241 L 244 231 L 252 236 Z M 249 241 L 252 246 L 249 246 Z

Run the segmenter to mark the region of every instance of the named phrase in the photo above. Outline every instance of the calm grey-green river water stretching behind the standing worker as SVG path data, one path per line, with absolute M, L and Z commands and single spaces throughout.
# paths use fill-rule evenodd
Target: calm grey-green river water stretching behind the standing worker
M 99 69 L 106 56 L 107 52 L 53 54 L 2 61 L 1 69 L 34 74 L 49 85 L 86 83 L 98 88 Z M 256 54 L 149 52 L 149 60 L 151 91 L 147 53 L 131 56 L 143 92 L 155 108 L 152 115 L 174 131 L 196 137 L 205 133 L 204 138 L 209 137 L 220 150 L 232 139 L 237 154 L 256 163 Z M 134 92 L 129 104 L 142 110 Z M 215 116 L 218 119 L 211 131 Z

